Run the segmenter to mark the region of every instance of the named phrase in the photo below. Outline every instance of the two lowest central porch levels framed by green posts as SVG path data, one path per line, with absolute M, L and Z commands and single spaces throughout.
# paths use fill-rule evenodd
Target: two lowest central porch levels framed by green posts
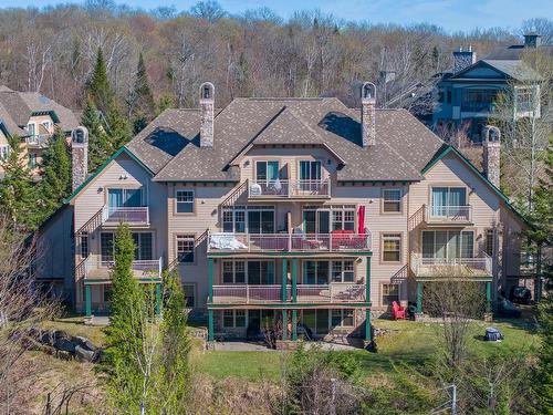
M 210 341 L 263 333 L 284 341 L 336 333 L 371 340 L 369 251 L 210 255 L 208 287 Z

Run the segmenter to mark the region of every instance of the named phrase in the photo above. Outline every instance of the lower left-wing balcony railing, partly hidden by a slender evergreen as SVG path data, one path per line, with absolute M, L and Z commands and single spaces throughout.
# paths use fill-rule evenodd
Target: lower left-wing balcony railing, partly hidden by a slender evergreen
M 83 277 L 85 280 L 109 280 L 109 273 L 115 266 L 114 261 L 102 261 L 97 256 L 90 256 L 83 262 Z M 132 270 L 134 277 L 139 280 L 160 280 L 163 258 L 135 260 Z

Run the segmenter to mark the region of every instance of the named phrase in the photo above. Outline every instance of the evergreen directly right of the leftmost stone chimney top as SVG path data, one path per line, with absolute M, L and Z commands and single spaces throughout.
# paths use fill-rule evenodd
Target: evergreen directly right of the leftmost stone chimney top
M 88 97 L 81 117 L 81 124 L 88 129 L 88 172 L 94 172 L 114 152 L 94 101 Z

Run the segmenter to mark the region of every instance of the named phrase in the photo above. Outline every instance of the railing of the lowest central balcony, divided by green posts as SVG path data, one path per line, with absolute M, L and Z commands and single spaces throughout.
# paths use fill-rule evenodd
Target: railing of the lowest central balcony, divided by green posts
M 286 301 L 292 300 L 292 287 L 286 287 Z M 281 286 L 213 286 L 213 304 L 281 303 Z M 365 302 L 365 284 L 330 283 L 324 286 L 298 284 L 298 303 Z

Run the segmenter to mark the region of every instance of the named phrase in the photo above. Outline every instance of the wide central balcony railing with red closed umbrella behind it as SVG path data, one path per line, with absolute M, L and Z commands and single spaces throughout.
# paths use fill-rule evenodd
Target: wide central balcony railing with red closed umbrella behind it
M 371 250 L 371 234 L 208 232 L 212 252 L 355 252 Z

